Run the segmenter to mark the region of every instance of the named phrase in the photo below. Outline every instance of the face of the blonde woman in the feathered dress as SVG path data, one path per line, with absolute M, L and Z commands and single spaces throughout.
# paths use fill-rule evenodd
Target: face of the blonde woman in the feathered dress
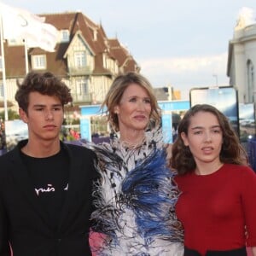
M 119 131 L 143 131 L 148 125 L 151 101 L 147 91 L 138 84 L 130 84 L 124 91 L 114 112 L 118 114 Z

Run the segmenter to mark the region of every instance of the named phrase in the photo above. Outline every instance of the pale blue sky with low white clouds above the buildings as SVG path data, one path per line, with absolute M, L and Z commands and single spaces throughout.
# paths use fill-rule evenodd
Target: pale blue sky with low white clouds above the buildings
M 228 45 L 242 7 L 255 0 L 1 0 L 34 14 L 82 11 L 119 38 L 155 87 L 228 85 Z

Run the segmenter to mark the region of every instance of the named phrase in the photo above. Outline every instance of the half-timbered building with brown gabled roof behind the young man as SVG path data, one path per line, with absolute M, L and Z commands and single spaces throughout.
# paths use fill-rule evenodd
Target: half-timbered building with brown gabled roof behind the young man
M 28 71 L 47 71 L 61 77 L 71 88 L 75 106 L 102 102 L 119 73 L 140 71 L 128 49 L 117 38 L 108 38 L 102 25 L 97 25 L 83 13 L 40 16 L 59 31 L 55 52 L 40 48 L 26 51 L 24 43 L 15 39 L 4 42 L 6 89 L 10 103 L 15 104 L 17 83 Z M 0 102 L 3 102 L 4 92 L 2 78 L 0 72 Z

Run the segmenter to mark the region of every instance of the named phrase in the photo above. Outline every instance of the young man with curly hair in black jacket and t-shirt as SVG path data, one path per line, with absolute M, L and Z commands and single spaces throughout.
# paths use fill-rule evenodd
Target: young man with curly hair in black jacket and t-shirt
M 0 255 L 91 255 L 96 156 L 59 139 L 70 90 L 52 73 L 28 73 L 15 99 L 29 137 L 0 157 Z

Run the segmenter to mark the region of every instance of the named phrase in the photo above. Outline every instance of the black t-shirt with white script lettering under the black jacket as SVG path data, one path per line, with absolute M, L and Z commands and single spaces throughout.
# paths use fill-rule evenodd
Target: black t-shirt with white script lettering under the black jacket
M 51 225 L 57 228 L 61 207 L 68 189 L 68 157 L 63 148 L 55 155 L 35 158 L 23 154 L 22 160 L 32 179 L 32 186 L 45 212 L 49 214 Z

